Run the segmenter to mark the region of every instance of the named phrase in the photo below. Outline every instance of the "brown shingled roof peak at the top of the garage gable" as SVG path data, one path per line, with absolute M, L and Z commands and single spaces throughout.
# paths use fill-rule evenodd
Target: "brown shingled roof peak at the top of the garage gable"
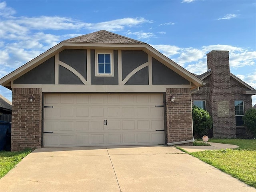
M 105 30 L 89 33 L 86 35 L 74 37 L 64 40 L 62 42 L 72 43 L 109 43 L 109 44 L 146 44 L 141 41 L 130 39 L 115 33 L 111 33 Z

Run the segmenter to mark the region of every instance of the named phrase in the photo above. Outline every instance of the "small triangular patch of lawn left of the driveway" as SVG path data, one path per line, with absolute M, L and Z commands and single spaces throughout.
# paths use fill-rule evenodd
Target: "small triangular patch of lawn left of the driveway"
M 0 151 L 0 178 L 14 168 L 31 151 L 31 149 L 20 152 Z

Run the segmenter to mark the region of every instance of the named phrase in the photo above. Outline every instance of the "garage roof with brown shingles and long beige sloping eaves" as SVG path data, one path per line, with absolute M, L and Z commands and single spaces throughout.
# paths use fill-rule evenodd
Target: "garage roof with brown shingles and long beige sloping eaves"
M 113 48 L 113 49 L 130 49 L 130 50 L 143 50 L 144 52 L 151 54 L 158 61 L 162 62 L 165 66 L 179 74 L 180 76 L 186 78 L 191 82 L 192 88 L 199 87 L 204 85 L 204 82 L 194 76 L 192 73 L 182 68 L 180 65 L 176 64 L 170 58 L 164 56 L 152 46 L 133 40 L 118 34 L 114 34 L 105 30 L 100 30 L 90 34 L 78 36 L 68 40 L 64 40 L 57 44 L 56 46 L 50 48 L 46 52 L 40 54 L 33 60 L 24 64 L 20 68 L 14 70 L 10 74 L 2 77 L 0 79 L 0 84 L 6 88 L 11 89 L 11 82 L 16 78 L 22 76 L 26 72 L 32 70 L 36 66 L 40 65 L 42 62 L 54 56 L 56 53 L 64 49 L 72 48 Z

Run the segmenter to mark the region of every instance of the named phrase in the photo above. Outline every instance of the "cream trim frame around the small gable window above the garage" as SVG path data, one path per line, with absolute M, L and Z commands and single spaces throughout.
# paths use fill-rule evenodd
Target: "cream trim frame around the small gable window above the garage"
M 110 54 L 110 74 L 98 73 L 98 54 Z M 112 50 L 95 51 L 95 76 L 96 77 L 114 77 L 114 52 Z

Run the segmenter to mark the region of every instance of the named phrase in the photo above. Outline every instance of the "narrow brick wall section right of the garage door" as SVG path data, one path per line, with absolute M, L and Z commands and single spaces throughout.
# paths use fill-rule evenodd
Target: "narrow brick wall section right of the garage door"
M 193 139 L 192 105 L 189 88 L 166 89 L 167 143 Z M 175 102 L 170 101 L 171 96 Z

